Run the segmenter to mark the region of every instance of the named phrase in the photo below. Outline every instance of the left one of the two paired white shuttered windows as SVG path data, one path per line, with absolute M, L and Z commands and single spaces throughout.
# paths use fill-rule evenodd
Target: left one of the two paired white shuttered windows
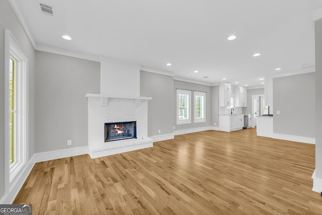
M 191 91 L 177 90 L 177 125 L 191 123 Z

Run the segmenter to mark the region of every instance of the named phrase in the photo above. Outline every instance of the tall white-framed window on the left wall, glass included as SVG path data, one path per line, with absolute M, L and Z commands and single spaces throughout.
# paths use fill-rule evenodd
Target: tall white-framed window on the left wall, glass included
M 5 59 L 8 185 L 19 178 L 28 156 L 28 58 L 9 30 L 5 31 Z

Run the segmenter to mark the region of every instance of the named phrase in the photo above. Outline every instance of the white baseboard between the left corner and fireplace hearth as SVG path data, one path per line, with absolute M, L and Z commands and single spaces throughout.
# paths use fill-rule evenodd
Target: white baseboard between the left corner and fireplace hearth
M 57 150 L 57 151 L 50 151 L 50 152 L 43 152 L 43 153 L 36 153 L 30 160 L 33 163 L 43 162 L 43 161 L 50 161 L 60 158 L 68 158 L 71 156 L 77 155 L 85 155 L 90 154 L 90 150 L 88 147 L 78 147 L 78 148 L 71 148 L 65 150 Z

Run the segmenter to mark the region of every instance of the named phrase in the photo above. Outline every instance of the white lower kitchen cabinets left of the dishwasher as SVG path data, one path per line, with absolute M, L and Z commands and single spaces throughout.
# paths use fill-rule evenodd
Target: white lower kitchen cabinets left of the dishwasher
M 219 130 L 230 132 L 243 129 L 243 127 L 244 114 L 219 115 Z

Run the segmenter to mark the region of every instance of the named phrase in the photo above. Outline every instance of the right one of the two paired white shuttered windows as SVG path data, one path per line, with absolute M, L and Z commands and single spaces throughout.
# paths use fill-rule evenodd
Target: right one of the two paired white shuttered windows
M 205 106 L 206 106 L 206 93 L 197 92 L 194 93 L 194 110 L 195 110 L 195 118 L 194 122 L 205 122 L 206 114 L 205 114 Z

